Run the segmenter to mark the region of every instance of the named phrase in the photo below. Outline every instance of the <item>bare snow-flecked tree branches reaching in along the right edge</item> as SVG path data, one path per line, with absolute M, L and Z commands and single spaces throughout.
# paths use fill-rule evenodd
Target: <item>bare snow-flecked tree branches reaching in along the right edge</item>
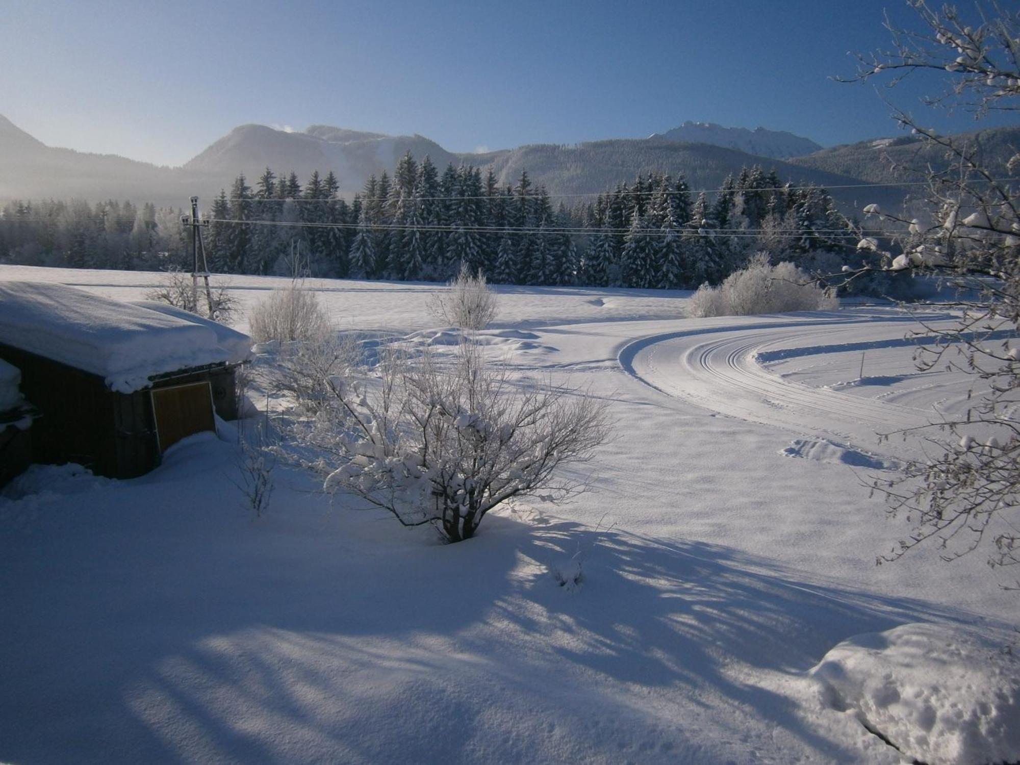
M 992 4 L 973 19 L 952 6 L 912 2 L 920 31 L 892 30 L 892 48 L 860 56 L 859 81 L 900 78 L 917 70 L 948 75 L 948 90 L 927 100 L 980 118 L 1020 109 L 1020 10 Z M 1002 166 L 976 140 L 944 137 L 901 112 L 899 121 L 925 148 L 942 154 L 941 168 L 918 169 L 927 182 L 932 223 L 909 224 L 914 242 L 892 260 L 896 270 L 946 275 L 973 300 L 955 303 L 951 329 L 924 327 L 931 345 L 917 356 L 921 368 L 949 366 L 972 375 L 964 416 L 919 428 L 928 457 L 903 475 L 878 480 L 889 511 L 914 524 L 888 556 L 932 543 L 947 560 L 981 549 L 992 567 L 1020 563 L 1020 153 Z M 1014 151 L 1016 151 L 1014 149 Z M 877 205 L 865 212 L 880 214 Z M 885 215 L 885 217 L 896 216 Z M 917 240 L 920 240 L 918 243 Z M 1020 580 L 1017 581 L 1020 589 Z

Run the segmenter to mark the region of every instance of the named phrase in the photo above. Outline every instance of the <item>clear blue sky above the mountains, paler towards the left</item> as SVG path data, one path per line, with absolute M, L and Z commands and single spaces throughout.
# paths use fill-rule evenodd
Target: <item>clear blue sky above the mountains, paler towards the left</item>
M 685 119 L 823 145 L 896 135 L 849 51 L 902 0 L 0 0 L 0 114 L 51 146 L 181 164 L 246 122 L 419 133 L 451 151 L 640 138 Z M 940 131 L 965 114 L 883 95 Z

